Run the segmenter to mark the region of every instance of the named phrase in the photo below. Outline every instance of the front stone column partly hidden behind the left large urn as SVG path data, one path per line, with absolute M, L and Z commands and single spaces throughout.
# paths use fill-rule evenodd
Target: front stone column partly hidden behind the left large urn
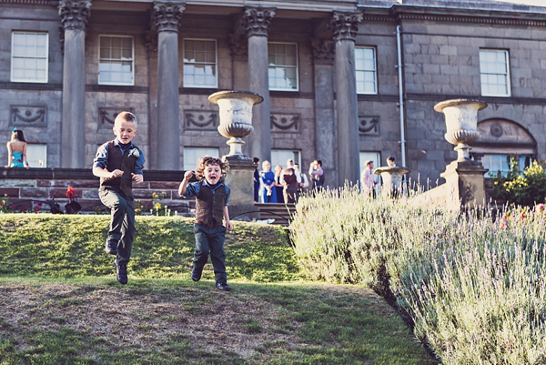
M 249 157 L 258 157 L 260 161 L 271 160 L 268 32 L 273 16 L 273 9 L 262 7 L 247 7 L 243 16 L 248 35 L 248 88 L 264 98 L 261 104 L 254 106 L 252 127 L 255 132 L 248 140 L 247 154 Z

